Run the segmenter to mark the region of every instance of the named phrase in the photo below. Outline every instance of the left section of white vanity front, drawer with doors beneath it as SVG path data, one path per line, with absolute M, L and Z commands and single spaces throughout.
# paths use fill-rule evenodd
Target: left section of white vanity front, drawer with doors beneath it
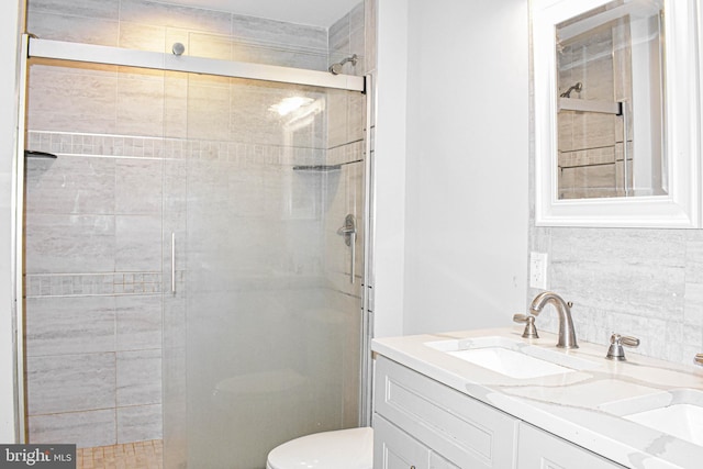
M 376 360 L 377 469 L 510 468 L 520 421 L 382 356 Z

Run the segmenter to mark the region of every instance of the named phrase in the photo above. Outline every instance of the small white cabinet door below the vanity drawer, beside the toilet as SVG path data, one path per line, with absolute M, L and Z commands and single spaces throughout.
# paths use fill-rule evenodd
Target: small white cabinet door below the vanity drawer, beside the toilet
M 373 415 L 375 469 L 429 469 L 429 449 L 378 414 Z

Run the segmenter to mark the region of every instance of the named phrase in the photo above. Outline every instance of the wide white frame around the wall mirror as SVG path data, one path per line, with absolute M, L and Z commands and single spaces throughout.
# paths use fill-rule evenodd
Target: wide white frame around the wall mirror
M 693 228 L 701 225 L 699 15 L 665 0 L 667 196 L 557 199 L 556 25 L 612 0 L 533 0 L 535 223 L 537 226 Z

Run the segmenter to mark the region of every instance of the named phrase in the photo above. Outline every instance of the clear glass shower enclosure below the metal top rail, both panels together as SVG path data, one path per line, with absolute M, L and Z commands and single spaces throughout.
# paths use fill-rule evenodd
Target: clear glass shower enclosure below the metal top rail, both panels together
M 362 86 L 80 60 L 30 60 L 29 440 L 249 469 L 364 424 Z

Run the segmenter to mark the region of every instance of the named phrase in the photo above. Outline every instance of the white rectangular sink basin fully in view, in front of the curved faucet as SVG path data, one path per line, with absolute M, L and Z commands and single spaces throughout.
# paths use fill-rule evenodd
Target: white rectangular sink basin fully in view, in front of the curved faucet
M 436 340 L 427 342 L 425 345 L 515 379 L 563 375 L 596 366 L 590 360 L 569 356 L 566 353 L 504 337 Z

